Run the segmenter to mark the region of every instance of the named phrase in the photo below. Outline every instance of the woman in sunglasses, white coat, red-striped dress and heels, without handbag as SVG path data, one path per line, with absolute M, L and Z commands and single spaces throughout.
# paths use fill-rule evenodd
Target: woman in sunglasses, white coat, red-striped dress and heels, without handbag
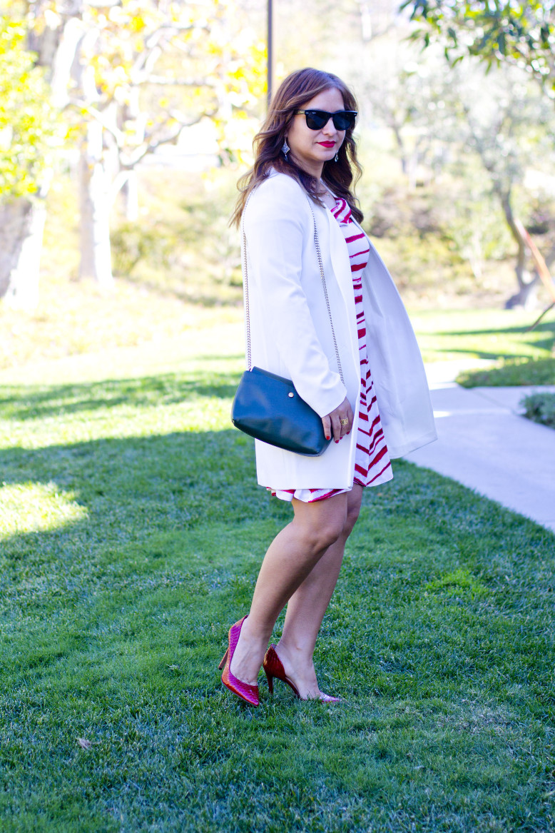
M 320 457 L 255 441 L 260 485 L 291 501 L 294 518 L 270 544 L 221 661 L 225 686 L 252 706 L 263 663 L 270 691 L 277 677 L 303 700 L 338 699 L 320 691 L 313 653 L 363 489 L 391 479 L 392 456 L 435 439 L 414 333 L 359 226 L 356 115 L 338 77 L 293 72 L 255 137 L 234 215 L 245 232 L 252 363 L 292 379 L 334 440 Z M 267 650 L 285 605 L 280 641 Z

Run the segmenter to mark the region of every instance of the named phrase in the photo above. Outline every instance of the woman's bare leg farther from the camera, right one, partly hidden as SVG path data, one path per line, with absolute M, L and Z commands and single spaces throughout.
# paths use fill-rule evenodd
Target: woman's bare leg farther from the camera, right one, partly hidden
M 303 699 L 317 697 L 321 693 L 312 655 L 322 619 L 337 583 L 345 543 L 359 516 L 362 491 L 362 486 L 355 485 L 349 492 L 347 520 L 341 535 L 328 547 L 287 605 L 285 626 L 277 652 L 285 673 L 295 682 Z

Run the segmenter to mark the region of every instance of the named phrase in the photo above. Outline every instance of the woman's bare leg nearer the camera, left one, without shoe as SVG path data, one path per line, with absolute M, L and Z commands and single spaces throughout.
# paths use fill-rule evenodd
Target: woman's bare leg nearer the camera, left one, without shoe
M 234 676 L 251 685 L 258 677 L 275 620 L 341 535 L 347 517 L 347 494 L 316 503 L 293 501 L 293 506 L 293 521 L 280 531 L 265 554 L 250 614 L 230 667 Z

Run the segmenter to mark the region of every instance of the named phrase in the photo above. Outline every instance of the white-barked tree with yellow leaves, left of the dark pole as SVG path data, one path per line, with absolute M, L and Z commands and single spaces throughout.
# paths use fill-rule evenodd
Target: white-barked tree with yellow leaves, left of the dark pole
M 86 114 L 80 162 L 80 277 L 109 287 L 109 216 L 124 189 L 126 216 L 137 216 L 136 165 L 202 118 L 217 119 L 228 99 L 253 99 L 252 42 L 230 47 L 237 23 L 232 2 L 198 7 L 156 0 L 83 3 L 83 36 L 72 62 L 69 100 Z M 131 33 L 131 34 L 130 34 Z M 240 60 L 243 78 L 237 88 Z M 250 75 L 250 77 L 249 77 Z M 159 91 L 164 92 L 163 96 Z

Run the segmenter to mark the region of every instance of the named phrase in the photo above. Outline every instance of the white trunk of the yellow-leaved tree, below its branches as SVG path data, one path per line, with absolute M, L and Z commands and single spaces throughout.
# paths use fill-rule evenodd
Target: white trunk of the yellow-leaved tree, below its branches
M 81 180 L 81 264 L 79 277 L 92 278 L 111 288 L 110 186 L 102 160 L 102 125 L 90 122 L 82 144 Z

